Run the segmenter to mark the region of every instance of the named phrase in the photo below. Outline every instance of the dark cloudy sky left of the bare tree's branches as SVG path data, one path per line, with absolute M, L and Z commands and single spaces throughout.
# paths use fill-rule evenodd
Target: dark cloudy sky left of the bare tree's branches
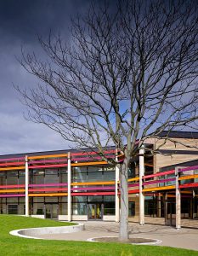
M 40 53 L 37 35 L 47 37 L 50 29 L 67 37 L 71 16 L 83 14 L 88 4 L 88 0 L 0 1 L 0 154 L 68 148 L 54 131 L 24 119 L 25 107 L 13 84 L 30 87 L 35 79 L 16 57 L 20 58 L 21 46 Z

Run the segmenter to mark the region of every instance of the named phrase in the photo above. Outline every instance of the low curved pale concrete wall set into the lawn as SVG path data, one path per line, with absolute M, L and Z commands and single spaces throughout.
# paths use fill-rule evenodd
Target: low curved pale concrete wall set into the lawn
M 73 232 L 79 232 L 82 230 L 84 230 L 84 224 L 76 224 L 73 226 L 12 230 L 9 232 L 9 234 L 13 235 L 13 236 L 24 237 L 24 238 L 44 239 L 44 238 L 39 238 L 39 237 L 35 237 L 35 236 L 47 235 L 47 234 L 73 233 Z

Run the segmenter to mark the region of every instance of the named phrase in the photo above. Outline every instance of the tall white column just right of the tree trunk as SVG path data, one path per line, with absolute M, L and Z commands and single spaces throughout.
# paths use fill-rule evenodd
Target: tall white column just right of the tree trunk
M 143 176 L 144 176 L 144 148 L 139 149 L 139 224 L 144 225 L 144 194 L 143 194 Z

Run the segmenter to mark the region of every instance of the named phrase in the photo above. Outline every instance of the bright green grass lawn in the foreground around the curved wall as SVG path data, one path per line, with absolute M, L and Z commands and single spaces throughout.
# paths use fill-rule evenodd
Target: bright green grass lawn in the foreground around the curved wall
M 0 215 L 0 255 L 122 255 L 122 256 L 194 256 L 198 252 L 158 246 L 133 246 L 117 243 L 87 241 L 35 240 L 9 235 L 11 230 L 68 225 L 53 220 Z

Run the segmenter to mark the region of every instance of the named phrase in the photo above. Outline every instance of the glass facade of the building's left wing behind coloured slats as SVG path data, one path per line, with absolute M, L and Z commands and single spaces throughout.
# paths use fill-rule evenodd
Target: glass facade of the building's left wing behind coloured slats
M 64 190 L 64 188 L 67 188 L 67 178 L 66 168 L 31 169 L 29 171 L 29 193 L 33 193 L 34 196 L 29 197 L 30 214 L 44 215 L 45 218 L 58 218 L 58 215 L 67 215 L 67 195 L 54 196 L 57 193 L 56 188 L 63 189 L 63 193 L 67 192 L 66 189 Z M 82 166 L 72 167 L 71 169 L 71 182 L 73 183 L 97 183 L 103 181 L 115 181 L 115 167 Z M 25 171 L 0 172 L 0 185 L 25 186 Z M 93 204 L 93 206 L 97 206 L 96 210 L 94 210 L 96 217 L 102 218 L 103 215 L 115 215 L 115 195 L 80 195 L 88 193 L 90 187 L 90 191 L 93 194 L 105 191 L 105 185 L 103 184 L 85 184 L 83 188 L 82 185 L 71 187 L 71 192 L 79 194 L 78 196 L 71 196 L 71 214 L 88 215 L 88 206 Z M 16 187 L 16 189 L 20 188 L 22 187 Z M 25 187 L 22 189 L 24 191 Z M 25 192 L 17 194 L 20 193 Z M 41 193 L 43 196 L 40 195 Z M 54 194 L 53 196 L 45 196 L 48 193 Z M 25 214 L 25 195 L 0 198 L 0 211 L 5 214 Z

